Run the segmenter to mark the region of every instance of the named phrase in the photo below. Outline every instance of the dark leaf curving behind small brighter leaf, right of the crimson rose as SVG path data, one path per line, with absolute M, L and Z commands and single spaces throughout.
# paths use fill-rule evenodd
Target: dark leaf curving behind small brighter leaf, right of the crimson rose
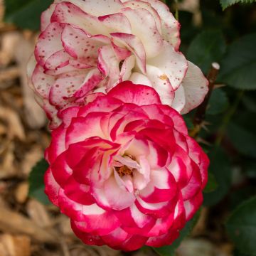
M 204 193 L 203 204 L 213 206 L 220 202 L 230 189 L 231 166 L 227 154 L 219 147 L 213 149 L 208 156 L 210 158 L 209 171 L 214 175 L 218 187 L 213 192 Z

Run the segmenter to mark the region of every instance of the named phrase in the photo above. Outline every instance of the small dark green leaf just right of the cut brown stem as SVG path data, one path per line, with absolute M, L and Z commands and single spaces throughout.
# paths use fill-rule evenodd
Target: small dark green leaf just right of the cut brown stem
M 215 89 L 210 96 L 207 114 L 220 114 L 227 110 L 228 105 L 228 97 L 225 92 L 221 89 Z

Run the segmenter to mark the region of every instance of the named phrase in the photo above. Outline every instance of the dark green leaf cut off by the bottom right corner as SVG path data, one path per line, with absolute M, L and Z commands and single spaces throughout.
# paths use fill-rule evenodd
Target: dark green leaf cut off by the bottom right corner
M 256 196 L 236 208 L 226 223 L 226 229 L 238 250 L 256 255 Z

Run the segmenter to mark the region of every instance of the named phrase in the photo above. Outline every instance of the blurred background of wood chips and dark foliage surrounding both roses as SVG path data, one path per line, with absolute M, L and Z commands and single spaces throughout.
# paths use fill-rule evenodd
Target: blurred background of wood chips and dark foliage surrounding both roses
M 41 11 L 51 2 L 0 0 L 0 256 L 156 255 L 149 247 L 125 253 L 83 245 L 43 193 L 41 159 L 50 134 L 28 87 L 26 63 Z M 205 75 L 213 62 L 220 73 L 206 118 L 184 117 L 210 156 L 204 204 L 183 230 L 186 239 L 157 250 L 164 256 L 256 255 L 256 5 L 223 11 L 220 2 L 233 1 L 166 3 L 181 23 L 181 51 Z

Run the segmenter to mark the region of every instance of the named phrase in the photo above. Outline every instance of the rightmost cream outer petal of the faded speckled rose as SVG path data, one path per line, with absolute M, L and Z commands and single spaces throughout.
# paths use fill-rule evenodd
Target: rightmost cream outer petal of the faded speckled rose
M 186 104 L 181 114 L 186 114 L 203 102 L 208 93 L 208 80 L 204 77 L 200 68 L 188 62 L 188 72 L 182 81 L 182 87 Z

